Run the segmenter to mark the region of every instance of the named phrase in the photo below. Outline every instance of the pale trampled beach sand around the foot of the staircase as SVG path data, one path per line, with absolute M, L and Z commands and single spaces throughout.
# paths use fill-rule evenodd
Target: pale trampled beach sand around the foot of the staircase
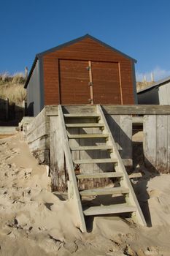
M 51 192 L 47 167 L 38 165 L 22 135 L 0 140 L 0 255 L 170 255 L 170 175 L 143 168 L 134 180 L 148 227 L 120 217 L 75 226 L 72 200 Z

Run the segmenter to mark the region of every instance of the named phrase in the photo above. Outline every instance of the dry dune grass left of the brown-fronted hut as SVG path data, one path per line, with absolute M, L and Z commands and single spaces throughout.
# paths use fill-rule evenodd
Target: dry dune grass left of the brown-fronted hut
M 9 104 L 23 102 L 26 99 L 26 81 L 23 73 L 9 75 L 7 72 L 0 75 L 0 98 L 9 99 Z

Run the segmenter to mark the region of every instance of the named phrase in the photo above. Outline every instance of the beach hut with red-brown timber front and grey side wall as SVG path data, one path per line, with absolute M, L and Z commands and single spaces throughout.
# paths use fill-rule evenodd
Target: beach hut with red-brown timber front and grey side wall
M 45 105 L 135 104 L 135 62 L 88 34 L 36 54 L 25 84 L 28 115 Z

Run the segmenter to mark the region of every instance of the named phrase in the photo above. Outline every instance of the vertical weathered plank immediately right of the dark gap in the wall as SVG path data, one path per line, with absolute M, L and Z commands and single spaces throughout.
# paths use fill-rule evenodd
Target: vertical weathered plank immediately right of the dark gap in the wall
M 156 116 L 144 116 L 144 163 L 155 168 L 156 164 Z

